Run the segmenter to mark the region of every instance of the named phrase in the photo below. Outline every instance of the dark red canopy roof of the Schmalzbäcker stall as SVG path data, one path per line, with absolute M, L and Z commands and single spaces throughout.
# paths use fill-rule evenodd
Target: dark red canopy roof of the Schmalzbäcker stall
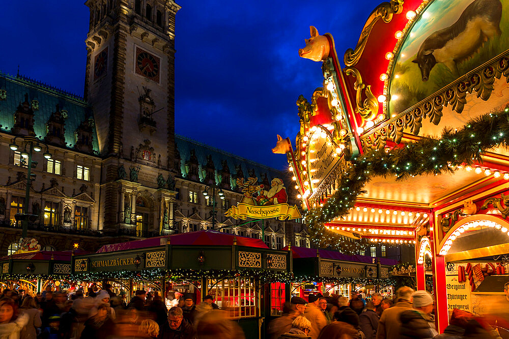
M 142 249 L 147 247 L 160 246 L 166 244 L 168 236 L 160 236 L 143 240 L 134 240 L 128 242 L 114 243 L 102 246 L 97 253 L 106 253 L 114 251 L 126 251 Z M 169 236 L 172 245 L 233 245 L 234 239 L 237 239 L 237 245 L 268 249 L 267 245 L 260 239 L 252 239 L 233 234 L 222 233 L 218 231 L 197 231 L 189 233 L 180 233 Z

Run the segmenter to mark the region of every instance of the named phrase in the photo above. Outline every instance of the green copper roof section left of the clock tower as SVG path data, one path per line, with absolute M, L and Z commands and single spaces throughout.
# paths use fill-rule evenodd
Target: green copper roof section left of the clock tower
M 55 111 L 56 104 L 60 105 L 61 111 L 67 111 L 65 140 L 68 147 L 73 147 L 76 143 L 74 131 L 79 124 L 93 118 L 92 107 L 82 98 L 23 76 L 14 77 L 0 72 L 0 90 L 7 92 L 5 100 L 0 98 L 2 130 L 11 131 L 14 126 L 14 113 L 18 105 L 24 101 L 25 94 L 28 94 L 29 102 L 33 100 L 39 102 L 39 109 L 34 110 L 34 132 L 41 139 L 46 136 L 46 122 Z M 99 150 L 95 128 L 92 145 L 95 151 Z

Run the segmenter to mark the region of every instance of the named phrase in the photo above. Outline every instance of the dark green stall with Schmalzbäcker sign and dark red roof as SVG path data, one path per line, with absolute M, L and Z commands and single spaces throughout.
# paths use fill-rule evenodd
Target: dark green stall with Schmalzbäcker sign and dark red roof
M 117 284 L 126 291 L 127 301 L 136 289 L 170 299 L 177 291 L 192 293 L 196 303 L 212 295 L 248 337 L 258 337 L 263 319 L 282 307 L 291 269 L 290 251 L 270 250 L 260 239 L 214 231 L 104 245 L 72 261 L 73 275 Z

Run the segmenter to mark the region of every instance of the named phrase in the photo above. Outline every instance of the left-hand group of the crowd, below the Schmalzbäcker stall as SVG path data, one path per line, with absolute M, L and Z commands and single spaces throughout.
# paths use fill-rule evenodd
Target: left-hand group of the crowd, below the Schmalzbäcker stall
M 181 294 L 169 308 L 157 293 L 137 290 L 129 303 L 111 286 L 67 294 L 50 289 L 35 297 L 13 290 L 0 296 L 0 339 L 243 339 L 238 323 L 217 310 L 212 296 L 196 305 Z

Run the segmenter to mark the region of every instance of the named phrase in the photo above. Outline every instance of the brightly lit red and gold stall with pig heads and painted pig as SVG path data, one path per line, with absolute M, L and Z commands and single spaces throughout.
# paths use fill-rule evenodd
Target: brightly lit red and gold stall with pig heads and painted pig
M 431 257 L 440 332 L 460 305 L 447 301 L 450 280 L 463 282 L 468 264 L 465 289 L 507 301 L 508 12 L 501 0 L 391 0 L 341 58 L 311 27 L 299 55 L 321 62 L 323 87 L 297 100 L 295 147 L 278 138 L 274 148 L 289 159 L 315 246 L 415 245 L 419 289 Z M 494 312 L 494 300 L 461 298 Z

